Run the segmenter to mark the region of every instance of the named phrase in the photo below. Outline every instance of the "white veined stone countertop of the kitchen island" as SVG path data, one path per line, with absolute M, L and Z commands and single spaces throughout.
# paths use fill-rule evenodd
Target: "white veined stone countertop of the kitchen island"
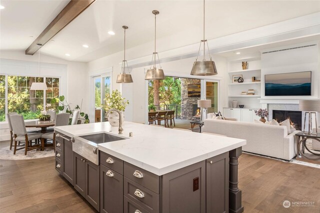
M 158 176 L 228 152 L 246 140 L 124 121 L 123 134 L 108 122 L 54 127 L 69 137 L 110 133 L 127 139 L 98 144 L 98 150 Z M 111 131 L 111 132 L 110 132 Z M 133 137 L 129 138 L 129 132 Z

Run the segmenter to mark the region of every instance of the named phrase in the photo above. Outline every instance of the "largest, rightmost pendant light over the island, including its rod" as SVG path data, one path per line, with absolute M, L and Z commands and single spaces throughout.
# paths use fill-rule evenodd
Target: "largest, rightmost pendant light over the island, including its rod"
M 201 40 L 201 42 L 200 42 L 198 55 L 196 56 L 196 59 L 193 63 L 193 67 L 192 67 L 190 75 L 216 75 L 216 74 L 218 74 L 216 71 L 215 63 L 214 63 L 214 61 L 211 60 L 208 42 L 204 38 L 204 29 L 205 29 L 204 19 L 205 18 L 204 18 L 204 0 L 203 0 L 203 40 Z M 199 52 L 200 52 L 202 42 L 203 42 L 203 60 L 197 61 L 197 59 L 199 57 Z M 205 60 L 205 42 L 206 42 L 206 46 L 208 48 L 208 53 L 209 53 L 209 57 L 210 57 L 209 61 Z

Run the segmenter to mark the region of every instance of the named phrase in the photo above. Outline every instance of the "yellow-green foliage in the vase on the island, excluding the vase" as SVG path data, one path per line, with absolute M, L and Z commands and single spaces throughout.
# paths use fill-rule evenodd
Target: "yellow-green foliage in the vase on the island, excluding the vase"
M 125 98 L 122 98 L 121 93 L 117 89 L 113 90 L 111 95 L 109 93 L 105 94 L 103 101 L 104 104 L 102 107 L 105 111 L 110 109 L 124 111 L 125 107 L 129 104 L 129 101 L 125 100 Z

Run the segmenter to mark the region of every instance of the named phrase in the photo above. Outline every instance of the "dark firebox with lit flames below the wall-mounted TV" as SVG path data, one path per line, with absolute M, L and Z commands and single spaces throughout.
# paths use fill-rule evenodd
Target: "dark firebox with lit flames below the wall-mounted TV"
M 289 110 L 272 110 L 272 119 L 277 122 L 282 122 L 286 119 L 290 119 L 291 124 L 296 130 L 302 128 L 302 112 L 301 111 L 289 111 Z

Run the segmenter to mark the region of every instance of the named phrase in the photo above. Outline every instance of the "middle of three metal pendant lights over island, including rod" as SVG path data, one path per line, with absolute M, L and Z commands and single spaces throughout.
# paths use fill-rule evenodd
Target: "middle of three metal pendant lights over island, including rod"
M 155 51 L 155 41 L 156 41 L 156 15 L 159 14 L 159 11 L 158 10 L 152 10 L 152 13 L 154 14 L 154 52 L 152 53 L 152 62 L 153 63 L 153 68 L 151 69 L 148 69 L 146 70 L 146 73 L 145 73 L 145 80 L 163 80 L 165 77 L 164 77 L 164 73 L 163 73 L 163 69 L 161 69 L 161 65 L 160 65 L 160 60 L 159 60 L 159 55 L 158 53 Z M 160 66 L 160 69 L 157 69 L 155 67 L 155 60 L 156 60 L 156 56 L 158 58 L 158 61 L 159 61 L 159 66 Z M 154 58 L 154 60 L 153 60 Z

